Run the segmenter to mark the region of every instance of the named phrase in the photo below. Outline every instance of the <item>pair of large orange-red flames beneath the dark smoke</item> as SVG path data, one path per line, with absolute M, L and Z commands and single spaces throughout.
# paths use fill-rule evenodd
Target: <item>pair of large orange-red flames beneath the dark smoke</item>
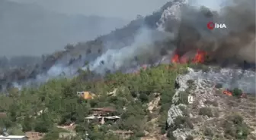
M 205 61 L 206 58 L 206 51 L 201 51 L 201 50 L 197 50 L 197 54 L 195 55 L 195 57 L 192 59 L 193 63 L 203 63 Z M 185 56 L 179 56 L 177 54 L 177 51 L 174 51 L 174 56 L 173 58 L 171 58 L 171 63 L 187 63 L 188 62 L 188 58 Z

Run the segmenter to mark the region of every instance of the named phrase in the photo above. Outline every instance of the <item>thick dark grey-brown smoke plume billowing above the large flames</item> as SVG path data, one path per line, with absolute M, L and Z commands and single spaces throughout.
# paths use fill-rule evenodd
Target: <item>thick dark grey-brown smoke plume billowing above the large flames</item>
M 165 30 L 172 31 L 178 27 L 177 48 L 181 55 L 200 48 L 211 52 L 211 57 L 218 63 L 256 63 L 256 2 L 226 0 L 225 3 L 230 5 L 219 11 L 183 5 L 180 19 L 176 20 L 177 26 L 173 26 L 173 21 L 165 23 Z M 210 21 L 225 23 L 227 28 L 209 30 L 206 24 Z

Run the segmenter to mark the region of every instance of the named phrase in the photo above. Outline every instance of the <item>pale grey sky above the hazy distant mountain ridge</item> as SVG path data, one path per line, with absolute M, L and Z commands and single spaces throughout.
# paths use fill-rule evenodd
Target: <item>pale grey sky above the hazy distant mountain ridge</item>
M 34 2 L 44 8 L 66 14 L 101 15 L 134 19 L 137 14 L 151 14 L 169 0 L 10 0 Z

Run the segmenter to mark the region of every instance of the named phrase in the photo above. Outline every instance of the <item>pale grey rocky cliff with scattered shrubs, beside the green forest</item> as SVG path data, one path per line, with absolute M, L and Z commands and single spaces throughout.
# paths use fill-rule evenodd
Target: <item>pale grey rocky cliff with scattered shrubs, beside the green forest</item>
M 225 87 L 216 88 L 216 83 L 220 82 L 216 79 L 227 79 L 223 76 L 227 76 L 229 70 L 213 72 L 213 67 L 207 72 L 188 70 L 176 80 L 178 89 L 167 120 L 170 135 L 183 140 L 191 137 L 198 140 L 255 139 L 256 96 L 248 94 L 248 98 L 237 98 L 223 94 Z M 223 72 L 226 74 L 221 76 Z M 190 104 L 188 95 L 194 98 Z

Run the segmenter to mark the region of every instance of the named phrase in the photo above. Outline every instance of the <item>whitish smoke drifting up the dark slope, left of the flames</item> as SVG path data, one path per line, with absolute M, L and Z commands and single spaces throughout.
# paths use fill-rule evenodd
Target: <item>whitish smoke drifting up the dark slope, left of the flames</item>
M 173 37 L 171 33 L 162 33 L 142 27 L 135 36 L 132 45 L 120 49 L 107 50 L 106 53 L 89 64 L 89 69 L 97 73 L 104 73 L 105 70 L 120 70 L 121 67 L 136 66 L 138 64 L 134 61 L 134 57 L 140 54 L 154 54 L 154 50 L 159 49 L 157 48 L 158 46 L 153 45 L 154 42 Z M 83 69 L 86 70 L 87 67 L 83 67 Z

